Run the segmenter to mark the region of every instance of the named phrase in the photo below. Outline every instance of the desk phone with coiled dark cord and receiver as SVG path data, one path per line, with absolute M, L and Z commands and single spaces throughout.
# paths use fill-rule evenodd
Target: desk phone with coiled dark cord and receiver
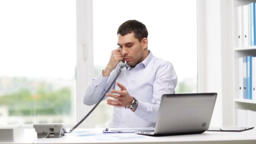
M 69 132 L 66 131 L 66 129 L 64 128 L 64 125 L 62 124 L 35 124 L 33 125 L 33 127 L 37 132 L 37 138 L 59 138 L 61 136 L 64 136 L 65 133 L 71 133 L 75 128 L 77 128 L 77 126 L 80 125 L 93 112 L 93 110 L 99 105 L 99 103 L 104 99 L 106 93 L 109 92 L 109 90 L 112 88 L 115 81 L 117 80 L 117 77 L 120 75 L 121 69 L 125 67 L 125 64 L 126 63 L 124 63 L 123 61 L 119 61 L 118 65 L 120 69 L 117 73 L 117 76 L 115 77 L 115 79 L 113 80 L 109 88 L 107 89 L 107 91 L 104 93 L 103 96 L 101 96 L 101 99 L 95 104 L 95 106 L 91 109 L 91 111 L 88 112 L 88 114 L 85 115 L 85 117 L 83 117 L 83 119 L 80 120 L 80 122 L 78 122 L 73 128 L 71 128 Z

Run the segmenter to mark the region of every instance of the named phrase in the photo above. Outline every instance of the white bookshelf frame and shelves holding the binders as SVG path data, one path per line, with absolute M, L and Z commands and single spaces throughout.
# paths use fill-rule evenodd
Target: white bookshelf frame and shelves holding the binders
M 256 0 L 232 0 L 232 64 L 233 64 L 233 87 L 232 87 L 232 113 L 233 113 L 233 125 L 241 125 L 240 121 L 242 117 L 246 118 L 243 120 L 245 123 L 248 122 L 248 117 L 246 112 L 255 111 L 256 112 L 256 100 L 251 99 L 241 99 L 239 98 L 239 58 L 243 56 L 256 56 L 256 46 L 245 46 L 238 47 L 237 44 L 237 6 L 248 5 L 251 2 L 256 2 Z M 241 110 L 245 112 L 241 115 Z M 249 115 L 249 113 L 248 113 Z M 251 117 L 249 117 L 250 119 Z M 256 117 L 255 120 L 256 121 Z M 255 125 L 256 126 L 256 125 Z

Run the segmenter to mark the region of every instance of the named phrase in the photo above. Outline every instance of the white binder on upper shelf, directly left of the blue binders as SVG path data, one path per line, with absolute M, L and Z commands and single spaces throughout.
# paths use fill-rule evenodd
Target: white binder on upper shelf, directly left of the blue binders
M 249 46 L 249 6 L 243 5 L 243 22 L 242 23 L 242 34 L 243 34 L 243 44 L 242 46 Z

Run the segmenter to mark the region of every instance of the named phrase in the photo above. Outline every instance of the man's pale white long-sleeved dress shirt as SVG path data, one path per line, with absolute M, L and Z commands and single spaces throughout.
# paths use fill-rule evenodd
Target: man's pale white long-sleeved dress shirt
M 100 72 L 93 78 L 86 89 L 84 104 L 96 104 L 115 79 L 119 69 L 117 64 L 115 70 L 108 77 L 103 77 Z M 109 128 L 153 127 L 157 120 L 162 95 L 174 93 L 177 76 L 170 62 L 155 58 L 149 51 L 147 58 L 136 67 L 131 68 L 126 65 L 117 78 L 117 82 L 124 85 L 128 93 L 136 98 L 139 104 L 135 112 L 125 107 L 114 107 Z M 120 90 L 116 83 L 112 88 Z

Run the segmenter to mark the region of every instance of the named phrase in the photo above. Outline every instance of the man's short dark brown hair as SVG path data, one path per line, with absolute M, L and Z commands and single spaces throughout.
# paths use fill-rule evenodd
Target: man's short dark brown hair
M 134 33 L 135 38 L 137 38 L 139 41 L 141 41 L 144 37 L 147 38 L 148 36 L 146 26 L 137 20 L 125 21 L 117 29 L 117 35 L 120 34 L 124 36 L 132 32 Z

